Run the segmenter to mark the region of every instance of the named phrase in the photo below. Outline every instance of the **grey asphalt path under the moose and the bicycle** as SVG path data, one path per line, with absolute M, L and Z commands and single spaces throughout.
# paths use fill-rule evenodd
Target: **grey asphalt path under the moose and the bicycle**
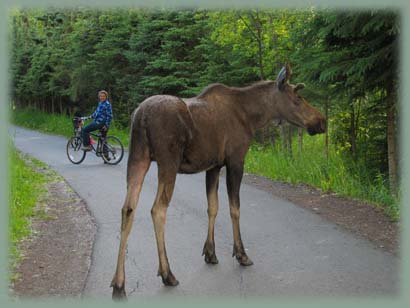
M 66 157 L 67 139 L 11 128 L 21 151 L 60 173 L 88 204 L 97 223 L 84 297 L 111 298 L 125 198 L 127 155 L 117 166 L 88 154 L 80 165 Z M 126 292 L 141 296 L 374 296 L 399 292 L 399 260 L 322 217 L 249 185 L 241 187 L 241 232 L 254 261 L 241 267 L 232 258 L 232 226 L 225 179 L 220 178 L 215 225 L 218 265 L 202 254 L 208 216 L 205 173 L 178 175 L 168 209 L 166 246 L 177 287 L 157 277 L 158 257 L 150 209 L 157 187 L 155 163 L 145 178 L 128 240 Z

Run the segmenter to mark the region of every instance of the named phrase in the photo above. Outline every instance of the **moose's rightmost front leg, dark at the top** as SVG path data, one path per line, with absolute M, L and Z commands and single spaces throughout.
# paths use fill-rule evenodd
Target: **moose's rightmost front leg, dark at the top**
M 248 266 L 253 262 L 246 255 L 241 239 L 239 227 L 240 201 L 239 190 L 243 176 L 243 162 L 227 165 L 226 186 L 228 188 L 229 210 L 232 219 L 233 229 L 233 254 L 240 265 Z

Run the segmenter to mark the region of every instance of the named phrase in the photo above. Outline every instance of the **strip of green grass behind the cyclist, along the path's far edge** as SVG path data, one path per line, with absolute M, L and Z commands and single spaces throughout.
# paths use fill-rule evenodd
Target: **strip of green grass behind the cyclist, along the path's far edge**
M 73 136 L 72 117 L 58 114 L 49 114 L 41 112 L 37 109 L 26 108 L 16 109 L 12 111 L 12 123 L 34 130 L 38 130 L 48 134 L 62 135 L 67 138 Z M 85 124 L 91 123 L 90 120 Z M 129 131 L 128 129 L 120 129 L 116 127 L 113 121 L 109 135 L 120 138 L 124 147 L 128 147 Z

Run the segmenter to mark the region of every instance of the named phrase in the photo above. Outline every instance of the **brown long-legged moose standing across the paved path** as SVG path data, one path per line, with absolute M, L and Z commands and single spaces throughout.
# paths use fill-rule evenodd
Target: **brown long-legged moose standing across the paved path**
M 214 225 L 218 212 L 219 173 L 222 167 L 226 167 L 233 256 L 240 265 L 253 264 L 241 240 L 239 190 L 245 155 L 255 131 L 275 119 L 305 128 L 310 135 L 326 130 L 323 115 L 298 93 L 304 84 L 292 85 L 289 83 L 290 77 L 291 68 L 286 64 L 275 81 L 259 81 L 242 88 L 215 83 L 193 98 L 155 95 L 134 110 L 131 116 L 127 194 L 121 210 L 117 268 L 111 282 L 113 299 L 126 298 L 124 263 L 127 238 L 144 177 L 152 161 L 156 161 L 158 166 L 158 188 L 151 216 L 158 248 L 158 276 L 161 276 L 164 285 L 178 285 L 171 272 L 164 240 L 167 208 L 178 173 L 206 171 L 209 224 L 202 255 L 206 263 L 217 264 Z

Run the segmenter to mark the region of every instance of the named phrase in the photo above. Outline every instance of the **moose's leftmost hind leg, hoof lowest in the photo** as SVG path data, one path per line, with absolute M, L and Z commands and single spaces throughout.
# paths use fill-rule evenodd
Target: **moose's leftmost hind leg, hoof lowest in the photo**
M 111 282 L 111 287 L 113 288 L 113 299 L 126 298 L 125 255 L 127 248 L 127 239 L 133 224 L 135 209 L 138 204 L 138 198 L 141 192 L 144 177 L 149 169 L 149 166 L 150 160 L 149 157 L 147 157 L 146 159 L 139 161 L 135 165 L 130 166 L 128 170 L 129 176 L 127 179 L 127 196 L 124 202 L 124 206 L 121 210 L 121 239 L 118 252 L 117 269 Z

